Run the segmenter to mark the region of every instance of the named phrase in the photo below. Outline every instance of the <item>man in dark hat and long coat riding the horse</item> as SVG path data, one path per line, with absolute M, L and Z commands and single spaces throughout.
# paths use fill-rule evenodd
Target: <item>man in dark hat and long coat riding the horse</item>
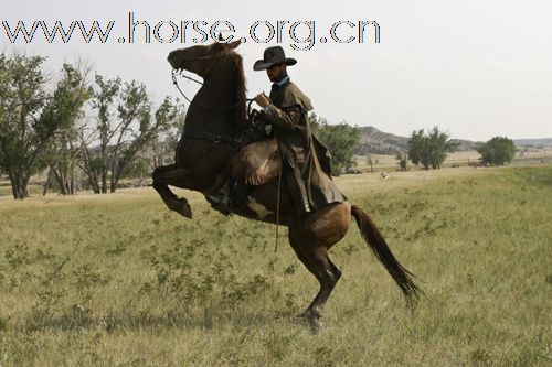
M 297 215 L 302 215 L 347 198 L 331 181 L 330 152 L 310 129 L 310 99 L 287 74 L 287 66 L 296 63 L 295 58 L 286 57 L 280 46 L 274 46 L 265 50 L 263 60 L 256 61 L 253 69 L 266 71 L 273 82 L 269 97 L 264 93 L 255 97 L 263 108 L 258 118 L 272 127 L 270 134 L 278 141 L 283 180 Z M 235 177 L 231 181 L 230 203 L 221 197 L 208 197 L 213 207 L 223 213 L 246 204 L 252 190 Z

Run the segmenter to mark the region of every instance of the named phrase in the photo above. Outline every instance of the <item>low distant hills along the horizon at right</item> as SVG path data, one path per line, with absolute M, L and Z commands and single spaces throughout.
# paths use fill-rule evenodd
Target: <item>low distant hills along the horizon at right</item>
M 355 154 L 395 154 L 397 151 L 405 151 L 408 148 L 408 138 L 400 137 L 393 133 L 383 132 L 373 126 L 359 127 L 362 132 L 359 147 Z M 450 139 L 456 142 L 458 148 L 456 151 L 465 152 L 476 150 L 480 141 L 471 141 L 464 139 Z M 546 139 L 513 139 L 513 143 L 520 148 L 548 148 L 552 147 L 552 138 Z

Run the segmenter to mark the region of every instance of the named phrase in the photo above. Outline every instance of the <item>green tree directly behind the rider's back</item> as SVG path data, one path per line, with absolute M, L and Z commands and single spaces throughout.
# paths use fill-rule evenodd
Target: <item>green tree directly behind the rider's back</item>
M 361 132 L 357 127 L 341 122 L 329 125 L 323 117 L 309 116 L 309 123 L 316 136 L 331 152 L 331 172 L 339 175 L 343 170 L 355 166 L 354 150 L 360 142 Z

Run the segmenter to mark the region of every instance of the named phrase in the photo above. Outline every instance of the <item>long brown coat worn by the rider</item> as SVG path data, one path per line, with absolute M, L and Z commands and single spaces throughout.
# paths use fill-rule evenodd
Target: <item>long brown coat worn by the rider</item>
M 284 176 L 295 207 L 304 214 L 347 201 L 331 181 L 330 152 L 310 131 L 310 99 L 289 80 L 273 87 L 270 99 L 273 105 L 264 118 L 278 138 Z

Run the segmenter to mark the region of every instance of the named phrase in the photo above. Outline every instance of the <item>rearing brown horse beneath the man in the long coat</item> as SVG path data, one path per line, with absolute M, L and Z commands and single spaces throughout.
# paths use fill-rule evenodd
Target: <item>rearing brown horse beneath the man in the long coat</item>
M 188 201 L 177 197 L 168 185 L 213 193 L 220 186 L 217 173 L 236 151 L 234 138 L 246 125 L 245 77 L 242 57 L 234 52 L 238 45 L 240 41 L 195 45 L 173 51 L 168 57 L 174 69 L 185 69 L 204 79 L 189 106 L 176 163 L 153 172 L 153 187 L 169 209 L 188 218 L 192 217 Z M 328 257 L 328 250 L 349 230 L 351 215 L 375 257 L 400 287 L 407 304 L 416 303 L 420 289 L 413 274 L 395 259 L 374 223 L 361 208 L 348 202 L 333 203 L 318 212 L 297 216 L 285 185 L 280 195 L 277 191 L 277 179 L 256 186 L 251 203 L 236 209 L 235 214 L 276 223 L 279 196 L 279 223 L 288 227 L 289 242 L 297 257 L 320 283 L 315 300 L 300 314 L 314 328 L 319 327 L 321 309 L 341 277 L 341 271 Z

